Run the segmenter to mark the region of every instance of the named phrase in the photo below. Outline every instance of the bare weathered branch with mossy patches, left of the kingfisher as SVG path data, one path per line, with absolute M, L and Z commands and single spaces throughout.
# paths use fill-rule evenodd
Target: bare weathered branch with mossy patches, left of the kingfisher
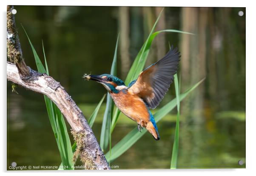
M 54 78 L 40 74 L 26 66 L 14 17 L 11 14 L 12 8 L 7 6 L 7 50 L 8 57 L 12 62 L 7 62 L 7 80 L 48 96 L 58 106 L 72 128 L 80 158 L 86 169 L 109 169 L 108 162 L 92 129 L 71 96 Z

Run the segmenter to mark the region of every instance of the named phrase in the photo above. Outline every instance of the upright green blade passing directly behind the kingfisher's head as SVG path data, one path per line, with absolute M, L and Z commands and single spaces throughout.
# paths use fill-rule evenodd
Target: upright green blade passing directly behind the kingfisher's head
M 114 58 L 111 66 L 111 75 L 117 75 L 117 47 L 118 47 L 118 39 L 119 34 L 117 36 L 116 48 L 114 52 Z M 113 116 L 114 102 L 110 97 L 110 94 L 107 95 L 107 103 L 106 109 L 104 112 L 103 120 L 102 120 L 102 128 L 100 133 L 100 147 L 102 151 L 105 151 L 108 148 L 109 140 L 110 140 L 110 131 L 111 131 L 111 117 Z

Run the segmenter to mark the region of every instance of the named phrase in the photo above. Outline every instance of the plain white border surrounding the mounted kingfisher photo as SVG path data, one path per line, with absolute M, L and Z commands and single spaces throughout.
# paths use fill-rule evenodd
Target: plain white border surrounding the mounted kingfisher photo
M 246 7 L 246 169 L 182 169 L 182 170 L 111 170 L 111 171 L 64 171 L 61 174 L 64 176 L 70 176 L 71 174 L 76 175 L 85 175 L 85 174 L 111 174 L 113 175 L 130 175 L 134 173 L 139 174 L 147 174 L 147 175 L 170 175 L 170 174 L 181 174 L 181 175 L 190 175 L 190 176 L 216 176 L 217 174 L 228 174 L 232 176 L 241 176 L 241 175 L 252 175 L 251 173 L 255 173 L 253 170 L 255 166 L 255 150 L 256 150 L 256 140 L 255 140 L 255 129 L 256 129 L 256 113 L 253 111 L 255 109 L 255 75 L 254 72 L 256 63 L 255 63 L 255 6 L 253 6 L 253 1 L 247 0 L 232 0 L 232 1 L 224 1 L 224 0 L 214 0 L 214 1 L 200 1 L 200 0 L 179 0 L 179 1 L 167 1 L 167 0 L 43 0 L 43 1 L 35 1 L 35 0 L 1 0 L 1 35 L 0 35 L 0 48 L 1 48 L 1 106 L 0 112 L 2 112 L 1 116 L 1 159 L 0 159 L 0 167 L 1 171 L 6 174 L 6 5 L 62 5 L 62 6 L 205 6 L 205 7 Z M 235 43 L 232 45 L 236 45 Z M 234 80 L 239 81 L 239 80 Z M 254 90 L 254 91 L 253 91 Z M 217 162 L 217 161 L 216 161 Z M 254 172 L 253 172 L 254 171 Z M 86 173 L 84 173 L 86 172 Z M 21 176 L 34 175 L 35 171 L 23 171 L 23 172 L 9 172 L 11 174 L 18 174 Z M 37 172 L 37 175 L 45 176 L 54 175 L 57 172 L 53 171 L 40 171 Z

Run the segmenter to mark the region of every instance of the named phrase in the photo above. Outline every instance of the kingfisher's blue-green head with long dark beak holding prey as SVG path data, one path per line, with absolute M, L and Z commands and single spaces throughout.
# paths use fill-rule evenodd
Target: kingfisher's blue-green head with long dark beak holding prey
M 83 78 L 97 81 L 98 83 L 102 84 L 108 90 L 108 92 L 111 93 L 119 93 L 120 90 L 127 88 L 125 83 L 114 75 L 84 75 Z

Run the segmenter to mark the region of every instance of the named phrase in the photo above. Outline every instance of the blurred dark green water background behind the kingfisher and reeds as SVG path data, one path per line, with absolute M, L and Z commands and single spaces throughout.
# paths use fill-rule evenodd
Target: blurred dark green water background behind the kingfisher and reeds
M 50 75 L 65 87 L 85 117 L 90 117 L 106 90 L 93 81 L 84 81 L 82 75 L 110 72 L 117 34 L 123 32 L 119 7 L 15 8 L 26 64 L 36 70 L 21 23 L 41 60 L 43 39 Z M 239 11 L 245 13 L 245 8 L 165 8 L 162 17 L 165 28 L 157 27 L 158 30 L 178 29 L 196 34 L 159 35 L 159 39 L 164 39 L 164 52 L 160 55 L 164 56 L 170 42 L 187 57 L 181 60 L 179 69 L 182 91 L 206 77 L 204 84 L 181 103 L 178 168 L 245 168 L 245 164 L 238 165 L 240 159 L 245 163 L 245 14 L 240 17 Z M 149 34 L 157 12 L 153 7 L 129 8 L 128 67 Z M 186 13 L 191 16 L 186 18 Z M 191 37 L 189 41 L 188 37 Z M 147 65 L 160 59 L 156 53 L 163 49 L 159 47 L 161 41 L 154 40 Z M 125 79 L 127 71 L 121 58 L 119 49 L 118 76 Z M 185 65 L 189 65 L 189 70 Z M 59 165 L 60 155 L 43 95 L 22 87 L 17 87 L 17 92 L 19 94 L 11 92 L 8 81 L 7 167 L 11 162 L 17 162 L 17 166 Z M 171 85 L 159 106 L 173 98 L 174 85 Z M 93 126 L 98 140 L 104 109 L 105 104 Z M 118 165 L 119 169 L 170 168 L 175 121 L 176 109 L 157 123 L 159 141 L 147 133 L 111 165 Z M 112 135 L 112 145 L 136 126 L 121 115 Z

